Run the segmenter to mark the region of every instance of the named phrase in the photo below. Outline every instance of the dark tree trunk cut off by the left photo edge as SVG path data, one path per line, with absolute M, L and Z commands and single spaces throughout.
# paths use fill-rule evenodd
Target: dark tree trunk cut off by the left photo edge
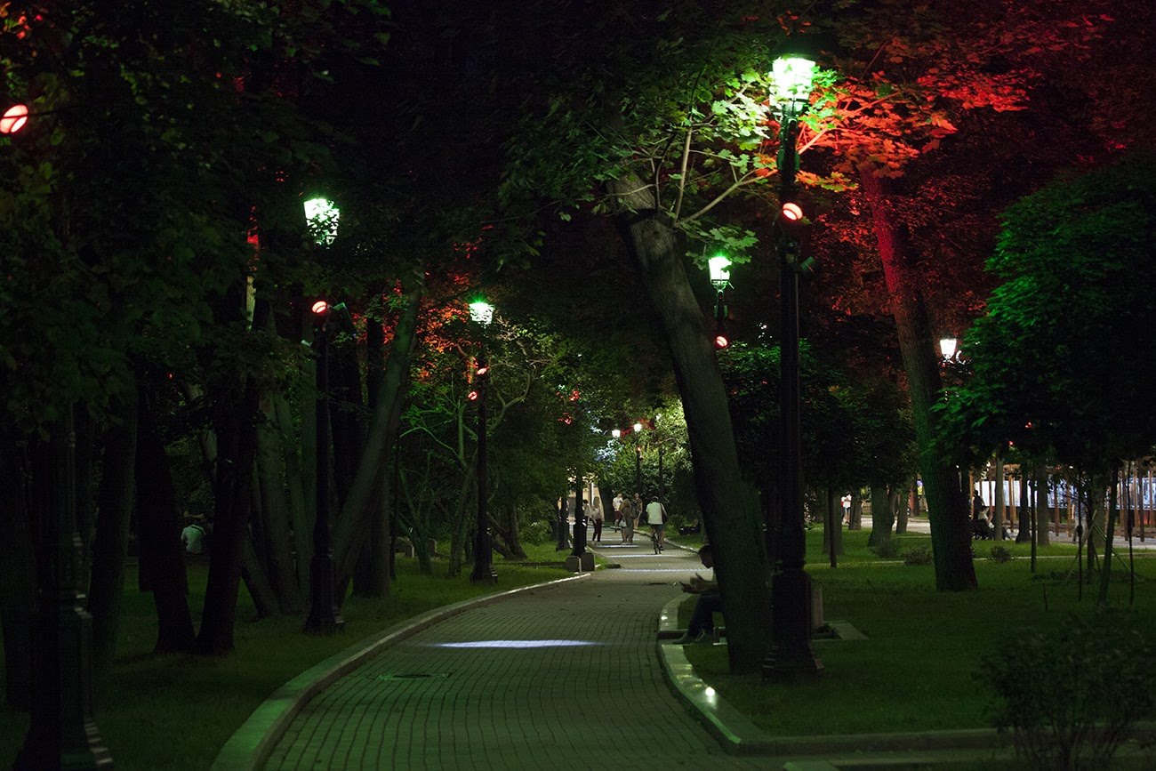
M 8 706 L 28 710 L 32 703 L 32 601 L 36 574 L 32 512 L 28 499 L 27 443 L 0 422 L 0 627 L 3 631 L 5 683 Z

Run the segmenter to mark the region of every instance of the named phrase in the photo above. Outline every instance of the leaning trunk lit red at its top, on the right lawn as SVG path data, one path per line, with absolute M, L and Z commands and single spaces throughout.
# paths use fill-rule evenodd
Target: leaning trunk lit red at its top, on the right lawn
M 899 338 L 903 368 L 919 450 L 919 470 L 927 497 L 935 559 L 935 587 L 941 591 L 975 590 L 976 566 L 971 558 L 969 501 L 955 469 L 943 460 L 935 440 L 936 417 L 932 412 L 941 390 L 939 362 L 919 282 L 911 275 L 903 232 L 897 227 L 883 180 L 867 164 L 859 168 L 864 194 L 870 206 L 883 264 L 883 277 L 891 295 L 891 313 Z

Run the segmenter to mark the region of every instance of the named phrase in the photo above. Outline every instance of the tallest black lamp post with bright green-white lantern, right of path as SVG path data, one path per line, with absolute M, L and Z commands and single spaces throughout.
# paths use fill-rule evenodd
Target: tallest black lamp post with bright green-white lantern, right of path
M 799 273 L 802 269 L 799 240 L 788 227 L 802 218 L 795 202 L 795 175 L 799 170 L 799 117 L 806 111 L 815 61 L 800 49 L 783 49 L 775 59 L 773 101 L 779 109 L 779 287 L 781 292 L 781 388 L 783 418 L 783 541 L 779 554 L 783 569 L 771 584 L 773 637 L 763 663 L 763 676 L 772 680 L 815 677 L 823 665 L 815 658 L 810 642 L 810 577 L 803 570 L 803 503 L 799 427 Z

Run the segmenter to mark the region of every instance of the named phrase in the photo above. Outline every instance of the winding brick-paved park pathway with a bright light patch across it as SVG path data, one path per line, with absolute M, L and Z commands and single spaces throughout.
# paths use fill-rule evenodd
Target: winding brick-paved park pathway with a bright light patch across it
M 306 704 L 265 768 L 765 768 L 726 755 L 662 676 L 657 617 L 697 555 L 603 538 L 594 549 L 621 569 L 385 648 Z

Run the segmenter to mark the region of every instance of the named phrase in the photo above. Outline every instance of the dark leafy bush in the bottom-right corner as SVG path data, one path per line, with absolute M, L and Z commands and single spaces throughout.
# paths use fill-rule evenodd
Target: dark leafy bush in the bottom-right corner
M 977 677 L 994 690 L 995 726 L 1014 732 L 1035 769 L 1109 768 L 1132 722 L 1153 711 L 1156 651 L 1124 613 L 1070 616 L 996 650 Z

